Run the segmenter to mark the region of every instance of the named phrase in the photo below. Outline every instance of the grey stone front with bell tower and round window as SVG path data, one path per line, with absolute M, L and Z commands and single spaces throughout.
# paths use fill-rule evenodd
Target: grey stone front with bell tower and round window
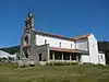
M 24 34 L 21 38 L 21 59 L 27 59 L 27 61 L 34 61 L 36 63 L 36 45 L 35 45 L 35 22 L 33 13 L 28 13 L 25 26 Z

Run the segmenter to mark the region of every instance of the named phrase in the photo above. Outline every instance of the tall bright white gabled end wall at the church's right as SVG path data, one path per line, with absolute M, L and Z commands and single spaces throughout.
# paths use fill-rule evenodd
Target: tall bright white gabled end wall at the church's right
M 97 39 L 93 34 L 88 36 L 88 48 L 89 48 L 89 61 L 92 63 L 98 63 L 98 44 Z

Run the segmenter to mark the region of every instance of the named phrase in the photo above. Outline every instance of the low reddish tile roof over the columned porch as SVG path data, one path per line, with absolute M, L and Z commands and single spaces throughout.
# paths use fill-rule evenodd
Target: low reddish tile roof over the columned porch
M 55 50 L 55 51 L 63 51 L 63 52 L 78 52 L 78 54 L 88 54 L 85 50 L 77 50 L 77 49 L 66 49 L 66 48 L 55 48 L 55 47 L 50 47 L 50 50 Z

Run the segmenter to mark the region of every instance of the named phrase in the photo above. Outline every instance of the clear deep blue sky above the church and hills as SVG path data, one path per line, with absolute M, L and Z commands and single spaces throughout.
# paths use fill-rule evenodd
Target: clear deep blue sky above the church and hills
M 109 0 L 0 0 L 0 47 L 20 44 L 29 11 L 36 31 L 109 40 Z

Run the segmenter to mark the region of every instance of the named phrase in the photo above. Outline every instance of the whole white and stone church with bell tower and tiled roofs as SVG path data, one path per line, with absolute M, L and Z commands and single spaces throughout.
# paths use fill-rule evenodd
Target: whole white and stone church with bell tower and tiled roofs
M 65 37 L 35 31 L 34 16 L 28 13 L 21 38 L 21 59 L 29 63 L 80 62 L 106 65 L 105 54 L 98 51 L 94 34 Z

